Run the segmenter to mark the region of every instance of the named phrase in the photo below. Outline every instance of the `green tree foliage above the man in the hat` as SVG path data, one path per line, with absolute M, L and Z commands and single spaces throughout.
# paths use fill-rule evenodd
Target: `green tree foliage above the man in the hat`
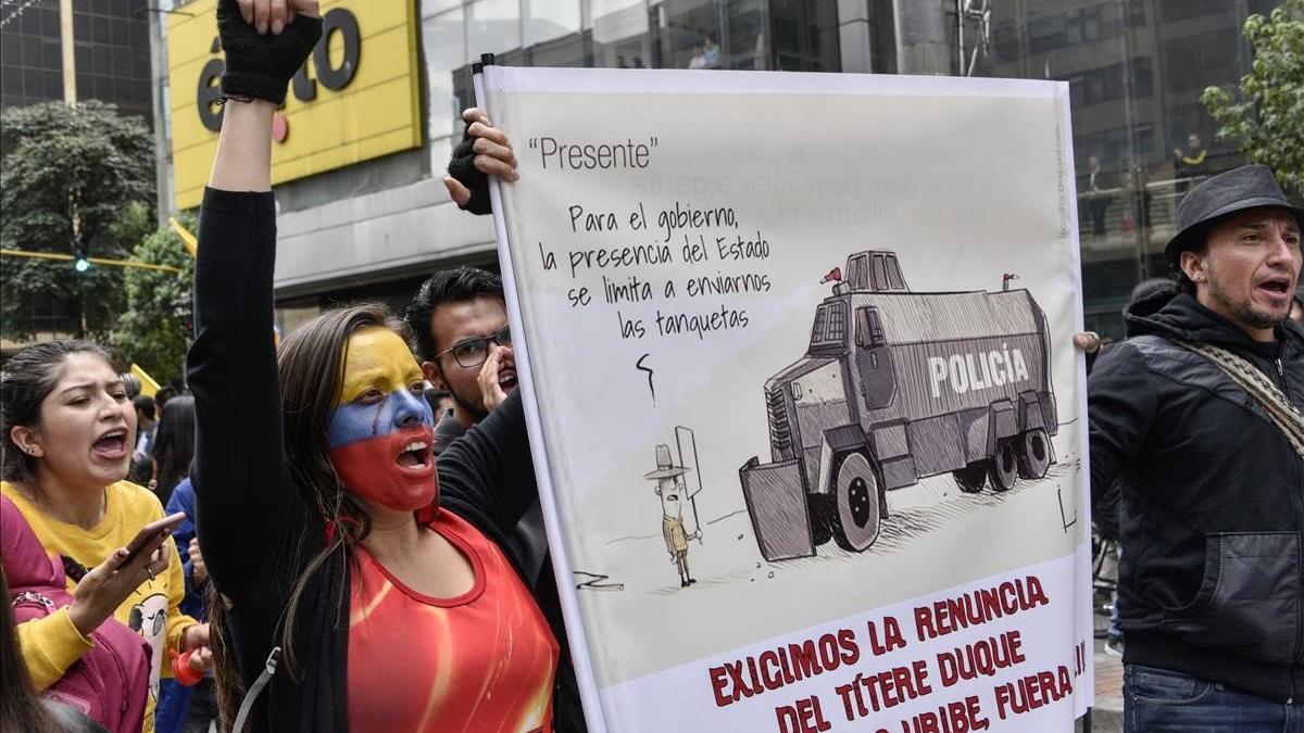
M 1304 193 L 1304 0 L 1284 0 L 1271 17 L 1251 16 L 1245 38 L 1254 47 L 1240 94 L 1210 86 L 1201 102 L 1231 140 L 1282 185 Z

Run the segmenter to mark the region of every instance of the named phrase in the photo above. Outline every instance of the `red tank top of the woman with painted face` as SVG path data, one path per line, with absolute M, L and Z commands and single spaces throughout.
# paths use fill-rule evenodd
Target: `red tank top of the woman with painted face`
M 348 629 L 353 733 L 550 733 L 557 640 L 497 545 L 450 511 L 430 528 L 466 556 L 475 583 L 424 596 L 359 548 Z

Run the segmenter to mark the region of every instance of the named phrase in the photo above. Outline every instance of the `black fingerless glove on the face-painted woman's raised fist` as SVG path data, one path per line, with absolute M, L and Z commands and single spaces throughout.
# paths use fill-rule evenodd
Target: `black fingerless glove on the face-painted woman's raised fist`
M 218 0 L 218 34 L 227 53 L 222 94 L 266 99 L 279 107 L 286 102 L 289 80 L 321 39 L 322 21 L 296 16 L 280 35 L 259 35 L 258 29 L 244 22 L 236 0 Z

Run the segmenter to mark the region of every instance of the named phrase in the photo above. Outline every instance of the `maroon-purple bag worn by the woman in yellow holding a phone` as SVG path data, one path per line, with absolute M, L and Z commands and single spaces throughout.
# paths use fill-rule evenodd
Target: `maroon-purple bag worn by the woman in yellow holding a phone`
M 40 540 L 9 497 L 0 496 L 0 558 L 9 580 L 14 623 L 44 618 L 73 603 L 63 561 Z M 150 691 L 150 643 L 110 618 L 91 633 L 95 646 L 44 695 L 73 707 L 113 733 L 140 733 Z

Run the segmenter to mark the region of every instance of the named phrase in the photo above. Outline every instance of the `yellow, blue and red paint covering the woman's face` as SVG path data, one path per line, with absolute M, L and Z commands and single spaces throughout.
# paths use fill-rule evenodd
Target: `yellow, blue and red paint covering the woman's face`
M 326 430 L 331 464 L 349 493 L 396 511 L 434 502 L 434 415 L 421 385 L 421 368 L 398 334 L 374 327 L 349 337 Z

